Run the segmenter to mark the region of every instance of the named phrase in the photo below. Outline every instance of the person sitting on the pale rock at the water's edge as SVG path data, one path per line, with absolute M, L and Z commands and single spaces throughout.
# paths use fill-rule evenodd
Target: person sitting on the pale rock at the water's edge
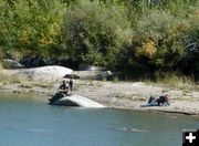
M 49 101 L 53 103 L 54 101 L 59 98 L 62 98 L 64 96 L 70 96 L 70 95 L 71 95 L 71 87 L 70 87 L 69 81 L 64 80 L 62 81 L 62 84 L 59 87 L 59 92 L 52 98 L 49 98 Z

